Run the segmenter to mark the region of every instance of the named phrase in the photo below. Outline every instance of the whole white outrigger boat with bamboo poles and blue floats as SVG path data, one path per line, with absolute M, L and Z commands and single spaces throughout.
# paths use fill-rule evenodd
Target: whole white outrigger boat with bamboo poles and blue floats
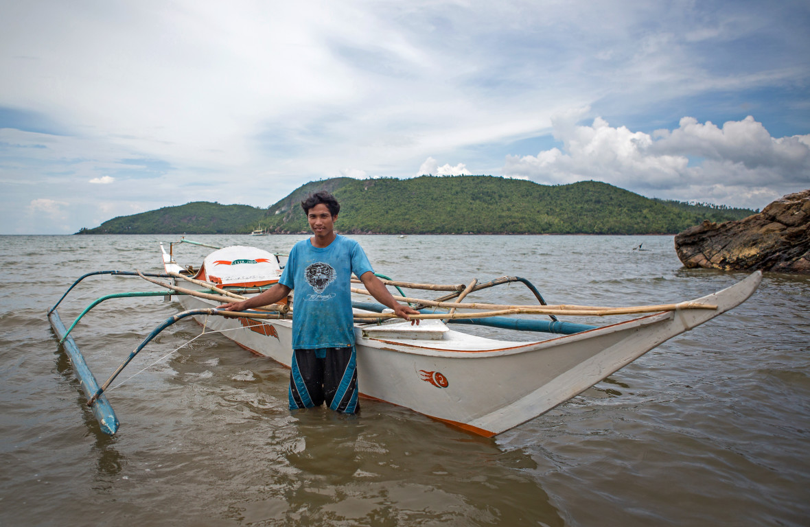
M 189 240 L 177 243 L 183 242 L 194 243 Z M 289 304 L 240 313 L 224 313 L 215 309 L 217 305 L 239 296 L 232 291 L 256 294 L 262 287 L 276 283 L 282 272 L 279 255 L 253 247 L 227 247 L 209 254 L 203 266 L 194 270 L 193 267 L 177 264 L 173 245 L 170 245 L 167 253 L 161 244 L 164 274 L 152 274 L 151 278 L 138 274 L 168 288 L 168 291 L 154 294 L 177 295 L 177 300 L 186 311 L 153 331 L 100 388 L 89 369 L 83 366 L 78 348 L 75 348 L 75 344 L 70 345 L 72 338 L 69 333 L 75 322 L 66 330 L 58 319 L 57 306 L 49 311 L 53 328 L 61 342 L 65 343 L 66 351 L 76 365 L 77 375 L 82 379 L 83 389 L 89 397 L 88 404 L 93 406 L 102 430 L 107 433 L 115 433 L 117 419 L 104 397 L 104 389 L 152 337 L 183 317 L 194 317 L 208 329 L 230 330 L 224 334 L 240 346 L 290 366 L 292 316 L 288 312 Z M 103 272 L 125 274 L 121 271 Z M 156 279 L 160 276 L 170 277 L 171 282 Z M 548 306 L 539 292 L 523 278 L 497 278 L 484 284 L 473 281 L 467 287 L 384 280 L 400 292 L 400 287 L 410 287 L 450 293 L 433 301 L 414 299 L 404 294 L 394 296 L 398 300 L 411 302 L 416 308 L 431 308 L 430 311 L 420 310 L 426 313 L 420 316 L 424 319 L 420 325 L 391 320 L 393 316 L 382 312 L 381 305 L 353 302 L 360 395 L 405 406 L 481 436 L 496 436 L 568 401 L 669 338 L 735 308 L 756 291 L 761 276 L 761 272 L 757 271 L 723 291 L 690 302 L 635 308 Z M 516 281 L 530 287 L 539 305 L 461 303 L 471 291 Z M 204 287 L 206 291 L 190 290 L 187 288 L 190 283 Z M 352 291 L 365 293 L 362 290 Z M 454 302 L 446 301 L 453 299 Z M 294 309 L 294 296 L 290 300 Z M 434 312 L 439 308 L 444 311 Z M 477 311 L 458 312 L 459 309 Z M 482 309 L 484 312 L 481 312 Z M 518 313 L 548 315 L 552 321 L 509 317 Z M 557 321 L 555 317 L 628 313 L 641 316 L 601 327 Z M 561 335 L 530 342 L 508 341 L 465 334 L 448 328 L 448 323 L 491 325 Z M 78 354 L 78 358 L 74 357 L 75 354 Z M 106 427 L 104 423 L 107 423 Z

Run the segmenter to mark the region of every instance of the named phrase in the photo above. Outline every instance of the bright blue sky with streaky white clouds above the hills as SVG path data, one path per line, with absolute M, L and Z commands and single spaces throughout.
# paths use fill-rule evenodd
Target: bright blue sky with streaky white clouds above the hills
M 810 2 L 0 0 L 0 234 L 335 176 L 810 188 Z

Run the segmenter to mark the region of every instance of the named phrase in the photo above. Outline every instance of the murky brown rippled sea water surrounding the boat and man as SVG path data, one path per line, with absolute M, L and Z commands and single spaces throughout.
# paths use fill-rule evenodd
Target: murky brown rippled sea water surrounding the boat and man
M 181 236 L 0 236 L 0 525 L 799 527 L 810 517 L 810 277 L 765 274 L 738 308 L 493 439 L 368 399 L 357 416 L 291 413 L 286 368 L 184 321 L 107 393 L 121 428 L 105 436 L 46 311 L 87 272 L 162 271 L 159 244 Z M 306 236 L 185 237 L 287 253 Z M 747 275 L 685 269 L 673 236 L 348 236 L 390 278 L 520 276 L 549 304 L 693 300 Z M 199 263 L 211 249 L 174 251 Z M 154 290 L 87 278 L 59 309 L 69 325 L 102 295 Z M 470 297 L 484 299 L 536 302 L 518 284 Z M 105 379 L 178 309 L 109 300 L 72 334 Z

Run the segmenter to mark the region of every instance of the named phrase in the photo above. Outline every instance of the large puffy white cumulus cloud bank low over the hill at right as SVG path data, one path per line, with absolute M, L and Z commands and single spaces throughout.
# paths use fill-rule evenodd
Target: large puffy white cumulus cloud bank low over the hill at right
M 612 127 L 587 111 L 552 117 L 563 149 L 507 155 L 506 176 L 544 184 L 604 181 L 648 196 L 761 208 L 784 193 L 810 186 L 810 136 L 772 138 L 746 117 L 723 127 L 684 117 L 675 130 L 654 134 Z

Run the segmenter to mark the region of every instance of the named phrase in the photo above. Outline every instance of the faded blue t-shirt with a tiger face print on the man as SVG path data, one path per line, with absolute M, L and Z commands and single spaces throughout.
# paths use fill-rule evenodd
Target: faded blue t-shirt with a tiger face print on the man
M 324 248 L 309 238 L 292 246 L 279 283 L 295 290 L 292 349 L 353 346 L 352 273 L 372 271 L 355 240 L 338 235 Z

